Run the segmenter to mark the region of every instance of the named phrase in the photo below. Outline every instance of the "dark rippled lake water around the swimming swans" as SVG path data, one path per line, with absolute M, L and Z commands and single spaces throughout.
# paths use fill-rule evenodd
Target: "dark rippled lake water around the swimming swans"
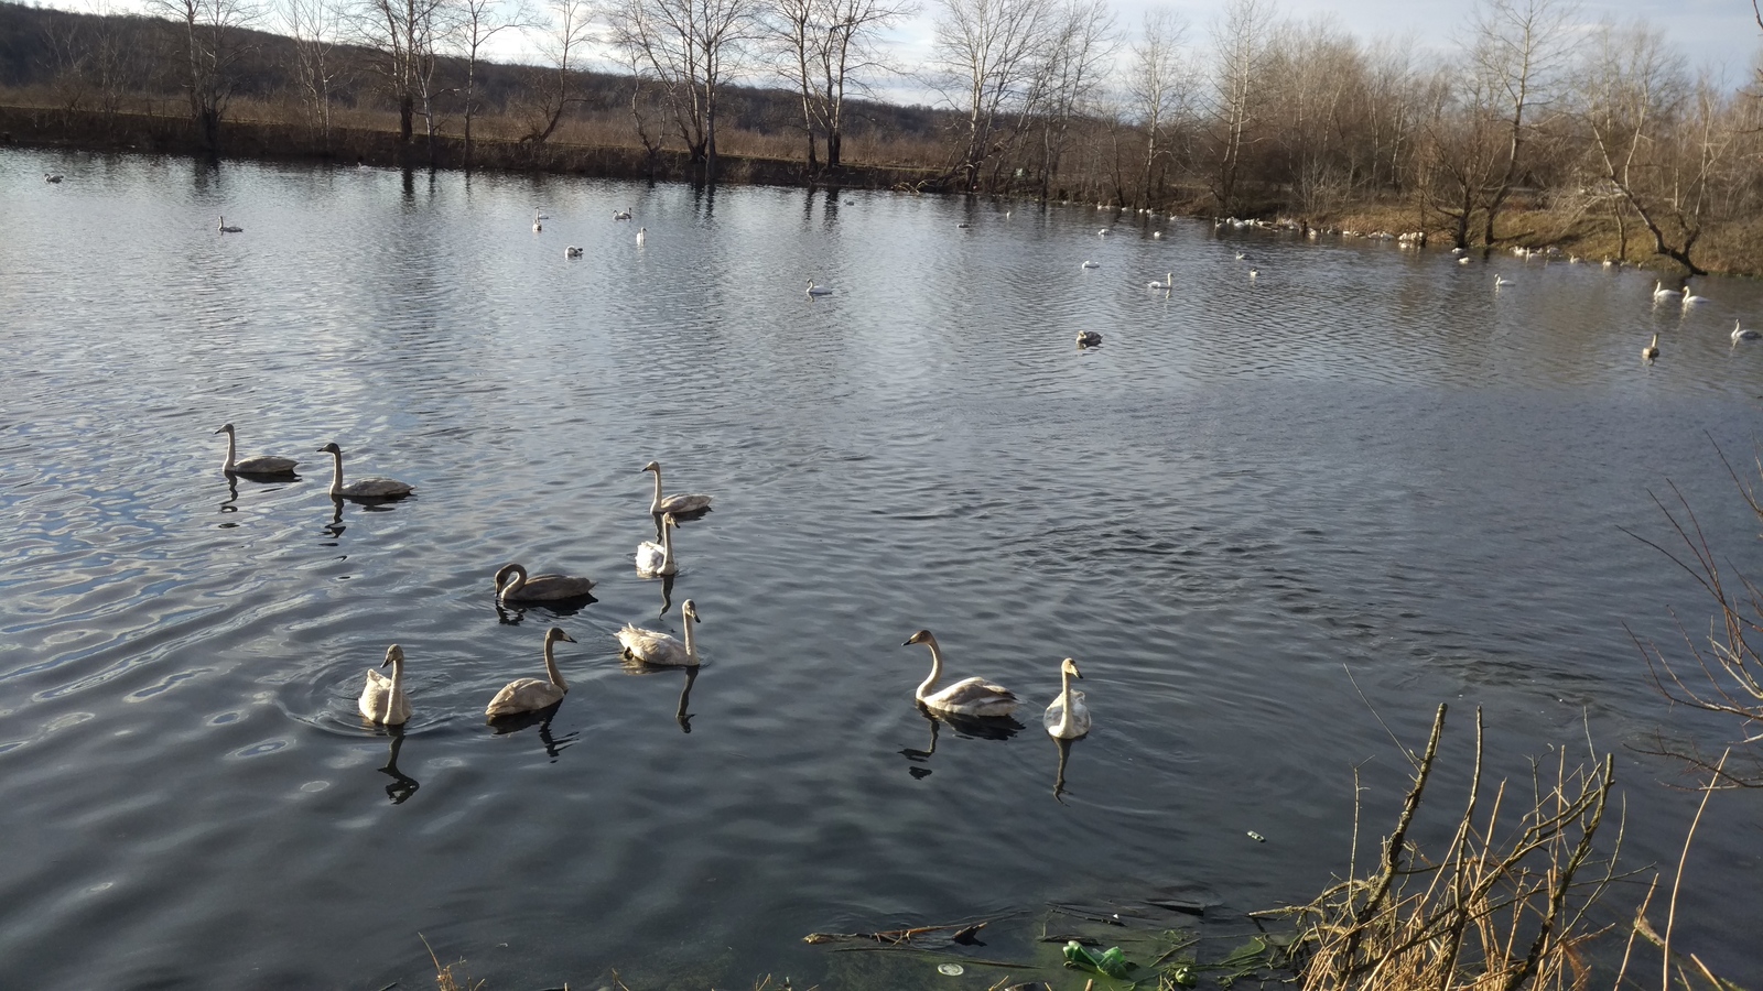
M 1354 769 L 1368 843 L 1395 820 L 1377 716 L 1419 746 L 1440 702 L 1440 823 L 1481 705 L 1490 776 L 1613 749 L 1627 862 L 1675 864 L 1696 797 L 1641 749 L 1737 730 L 1648 686 L 1624 624 L 1670 647 L 1708 608 L 1624 527 L 1664 540 L 1675 483 L 1756 573 L 1715 444 L 1754 471 L 1763 342 L 1728 332 L 1763 289 L 1700 280 L 1684 317 L 1652 280 L 1084 206 L 4 152 L 0 986 L 421 987 L 420 933 L 492 989 L 832 987 L 852 957 L 806 933 L 956 919 L 1015 959 L 1051 901 L 1312 898 Z M 229 485 L 224 421 L 301 478 Z M 416 497 L 338 511 L 328 441 Z M 670 589 L 631 566 L 651 458 L 716 496 Z M 508 561 L 598 601 L 499 615 Z M 682 719 L 684 674 L 612 633 L 688 598 Z M 552 624 L 571 691 L 497 734 Z M 1023 732 L 934 732 L 919 628 Z M 354 712 L 393 642 L 398 737 Z M 1065 656 L 1097 725 L 1056 794 Z M 1759 815 L 1714 799 L 1678 901 L 1677 945 L 1752 984 Z

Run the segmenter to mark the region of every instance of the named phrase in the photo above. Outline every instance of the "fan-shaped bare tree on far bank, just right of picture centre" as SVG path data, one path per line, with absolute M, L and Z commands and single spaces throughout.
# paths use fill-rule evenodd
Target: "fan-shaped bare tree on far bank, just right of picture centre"
M 966 141 L 957 171 L 964 189 L 978 189 L 978 171 L 993 155 L 1001 118 L 1026 116 L 1033 106 L 1037 58 L 1054 28 L 1049 0 L 941 0 L 936 21 L 936 62 L 950 79 L 950 102 L 966 116 Z

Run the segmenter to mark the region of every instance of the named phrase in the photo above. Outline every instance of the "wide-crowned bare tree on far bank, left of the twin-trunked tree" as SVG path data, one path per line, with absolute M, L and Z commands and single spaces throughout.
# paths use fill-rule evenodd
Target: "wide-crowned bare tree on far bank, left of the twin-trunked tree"
M 755 0 L 617 0 L 612 41 L 654 72 L 691 160 L 716 178 L 716 111 L 760 30 Z

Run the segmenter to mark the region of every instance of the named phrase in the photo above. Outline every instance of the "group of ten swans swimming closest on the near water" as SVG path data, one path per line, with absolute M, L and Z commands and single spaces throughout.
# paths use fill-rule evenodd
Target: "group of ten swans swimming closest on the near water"
M 256 455 L 238 457 L 238 432 L 233 423 L 222 425 L 215 434 L 226 434 L 226 460 L 220 471 L 227 476 L 247 476 L 259 480 L 293 478 L 298 467 L 296 458 Z M 319 453 L 331 455 L 333 499 L 390 501 L 411 496 L 416 488 L 391 478 L 361 478 L 344 483 L 342 448 L 328 443 L 317 448 Z M 649 513 L 656 520 L 659 541 L 645 540 L 636 545 L 635 564 L 642 577 L 672 577 L 679 571 L 679 559 L 673 552 L 673 529 L 681 518 L 696 518 L 710 510 L 710 496 L 663 490 L 661 464 L 649 462 L 642 467 L 654 474 L 654 494 L 649 501 Z M 508 563 L 495 570 L 495 596 L 502 605 L 536 603 L 571 603 L 584 601 L 594 589 L 594 580 L 575 575 L 531 575 L 524 564 Z M 698 622 L 698 607 L 686 600 L 681 607 L 682 638 L 656 630 L 643 630 L 624 624 L 614 637 L 619 640 L 622 654 L 640 665 L 696 668 L 702 663 L 698 645 L 693 638 L 693 624 Z M 561 626 L 552 626 L 545 633 L 545 679 L 522 677 L 502 686 L 485 707 L 488 719 L 517 716 L 522 712 L 541 712 L 562 702 L 569 691 L 562 672 L 557 668 L 557 644 L 575 644 Z M 938 688 L 943 677 L 943 652 L 936 637 L 929 630 L 920 630 L 906 640 L 906 645 L 924 644 L 931 649 L 931 674 L 919 684 L 915 698 L 924 709 L 940 716 L 961 716 L 978 719 L 1008 718 L 1019 698 L 1001 684 L 982 677 L 968 677 L 947 688 Z M 411 719 L 413 705 L 404 689 L 404 647 L 393 644 L 386 647 L 386 659 L 381 668 L 391 668 L 386 677 L 379 670 L 368 670 L 361 686 L 356 711 L 368 723 L 383 726 L 402 726 Z M 1072 688 L 1072 679 L 1081 679 L 1077 661 L 1065 658 L 1060 665 L 1061 688 L 1058 698 L 1047 705 L 1044 725 L 1056 739 L 1070 741 L 1090 732 L 1090 709 L 1084 705 L 1084 693 Z

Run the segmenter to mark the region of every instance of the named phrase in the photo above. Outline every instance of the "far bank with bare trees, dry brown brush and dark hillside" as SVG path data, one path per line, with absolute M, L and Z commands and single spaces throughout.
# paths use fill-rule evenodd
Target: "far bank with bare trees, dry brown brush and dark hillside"
M 1474 0 L 1453 51 L 1273 0 L 0 0 L 11 143 L 1095 203 L 1673 275 L 1763 275 L 1763 76 L 1569 0 Z M 1763 32 L 1756 23 L 1737 21 Z M 488 60 L 524 37 L 532 63 Z M 1763 37 L 1763 34 L 1759 34 Z M 908 81 L 938 106 L 873 86 Z

